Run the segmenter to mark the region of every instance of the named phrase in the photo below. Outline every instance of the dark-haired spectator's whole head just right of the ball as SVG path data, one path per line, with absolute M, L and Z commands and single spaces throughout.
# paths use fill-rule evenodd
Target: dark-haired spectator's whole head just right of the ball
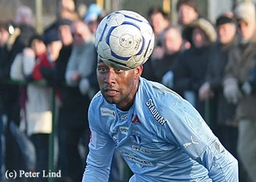
M 152 7 L 148 12 L 148 17 L 150 18 L 156 36 L 161 34 L 170 24 L 168 14 L 163 12 L 159 7 Z

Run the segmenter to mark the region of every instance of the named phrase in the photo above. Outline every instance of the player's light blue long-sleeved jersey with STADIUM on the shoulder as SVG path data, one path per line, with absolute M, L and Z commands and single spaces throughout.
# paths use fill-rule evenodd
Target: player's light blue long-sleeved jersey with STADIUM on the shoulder
M 140 78 L 129 111 L 98 92 L 89 108 L 83 182 L 108 182 L 114 149 L 137 182 L 238 182 L 238 162 L 200 114 L 162 84 Z

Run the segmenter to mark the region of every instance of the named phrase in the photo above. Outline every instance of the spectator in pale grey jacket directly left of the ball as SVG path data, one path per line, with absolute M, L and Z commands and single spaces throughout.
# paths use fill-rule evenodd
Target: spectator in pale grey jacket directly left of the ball
M 88 25 L 82 21 L 72 24 L 74 38 L 73 49 L 66 69 L 66 83 L 71 86 L 68 95 L 72 102 L 67 103 L 68 119 L 62 125 L 63 136 L 59 136 L 63 152 L 66 154 L 66 168 L 69 177 L 74 181 L 80 181 L 84 169 L 78 144 L 86 135 L 86 152 L 88 152 L 89 126 L 87 110 L 92 96 L 96 93 L 96 64 L 97 54 L 94 46 L 94 35 Z M 95 81 L 94 81 L 95 80 Z M 87 154 L 86 154 L 87 156 Z

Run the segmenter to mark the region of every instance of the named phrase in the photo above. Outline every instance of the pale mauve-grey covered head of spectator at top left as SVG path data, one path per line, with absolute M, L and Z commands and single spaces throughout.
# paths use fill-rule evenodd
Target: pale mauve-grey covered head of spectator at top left
M 16 12 L 14 22 L 17 25 L 34 25 L 34 15 L 28 6 L 20 6 Z

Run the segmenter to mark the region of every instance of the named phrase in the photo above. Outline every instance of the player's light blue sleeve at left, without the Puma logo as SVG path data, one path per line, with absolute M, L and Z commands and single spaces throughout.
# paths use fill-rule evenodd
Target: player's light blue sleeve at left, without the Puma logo
M 115 144 L 108 134 L 106 134 L 100 123 L 104 122 L 96 117 L 96 110 L 92 103 L 88 110 L 88 120 L 90 127 L 89 154 L 86 160 L 82 182 L 106 182 L 110 174 L 110 166 L 114 154 Z

